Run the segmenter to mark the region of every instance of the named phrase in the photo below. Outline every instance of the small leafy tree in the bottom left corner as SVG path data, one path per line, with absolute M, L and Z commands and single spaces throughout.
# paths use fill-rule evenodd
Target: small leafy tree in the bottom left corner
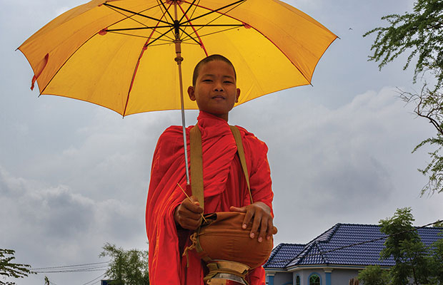
M 15 259 L 14 254 L 15 251 L 13 249 L 0 249 L 0 277 L 2 277 L 2 279 L 16 279 L 24 278 L 28 276 L 28 274 L 34 274 L 34 272 L 29 269 L 31 267 L 29 264 L 12 263 L 11 261 Z M 4 282 L 0 280 L 0 284 L 14 285 L 15 282 Z

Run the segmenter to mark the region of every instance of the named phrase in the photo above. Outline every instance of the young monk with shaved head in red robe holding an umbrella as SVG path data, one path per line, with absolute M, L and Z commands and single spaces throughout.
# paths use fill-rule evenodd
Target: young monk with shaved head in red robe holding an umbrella
M 190 187 L 186 187 L 182 128 L 171 126 L 156 145 L 146 204 L 149 281 L 153 285 L 204 284 L 204 265 L 195 251 L 188 252 L 187 262 L 186 257 L 181 256 L 184 247 L 191 244 L 189 236 L 199 227 L 203 212 L 244 212 L 242 227 L 246 229 L 252 222 L 251 239 L 262 242 L 272 237 L 274 195 L 267 146 L 239 127 L 254 201 L 251 204 L 237 145 L 228 125 L 229 111 L 240 96 L 234 66 L 224 56 L 204 58 L 194 69 L 188 94 L 200 110 L 197 126 L 201 131 L 203 154 L 204 209 L 191 196 Z M 188 151 L 191 128 L 186 129 Z M 177 183 L 186 189 L 191 200 Z M 265 282 L 264 269 L 262 266 L 253 269 L 247 277 L 249 284 L 262 285 Z

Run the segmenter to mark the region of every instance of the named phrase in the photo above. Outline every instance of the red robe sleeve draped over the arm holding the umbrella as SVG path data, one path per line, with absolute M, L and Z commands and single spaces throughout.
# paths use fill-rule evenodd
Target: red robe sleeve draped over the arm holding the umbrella
M 183 185 L 184 169 L 177 159 L 181 133 L 166 129 L 154 151 L 146 202 L 146 234 L 149 239 L 149 280 L 151 284 L 180 284 L 181 259 L 174 222 L 174 209 L 184 199 L 176 183 Z M 181 137 L 182 138 L 182 137 Z M 183 172 L 183 173 L 182 173 Z

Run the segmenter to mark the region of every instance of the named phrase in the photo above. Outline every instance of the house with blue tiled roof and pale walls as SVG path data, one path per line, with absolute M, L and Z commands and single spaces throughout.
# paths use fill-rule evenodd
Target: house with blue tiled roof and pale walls
M 443 237 L 443 228 L 417 229 L 424 244 Z M 335 224 L 308 244 L 279 244 L 264 269 L 268 285 L 347 285 L 360 270 L 378 264 L 388 269 L 394 259 L 380 260 L 385 235 L 374 224 Z

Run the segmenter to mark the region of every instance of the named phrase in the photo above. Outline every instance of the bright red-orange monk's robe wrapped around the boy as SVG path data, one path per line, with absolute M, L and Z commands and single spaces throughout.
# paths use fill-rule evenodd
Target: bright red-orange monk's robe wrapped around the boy
M 237 145 L 227 121 L 202 111 L 197 119 L 203 152 L 204 212 L 229 212 L 231 206 L 250 204 Z M 186 128 L 188 157 L 190 129 Z M 254 202 L 264 202 L 272 209 L 274 194 L 267 145 L 244 128 L 239 127 L 239 130 Z M 177 229 L 174 222 L 174 210 L 186 197 L 177 183 L 191 196 L 190 187 L 186 188 L 183 149 L 182 128 L 171 126 L 161 134 L 152 159 L 146 203 L 149 281 L 152 285 L 203 284 L 205 269 L 195 252 L 189 252 L 189 266 L 186 266 L 186 257 L 181 257 L 183 247 L 190 244 L 190 231 Z M 254 269 L 248 277 L 251 285 L 262 285 L 264 269 Z

